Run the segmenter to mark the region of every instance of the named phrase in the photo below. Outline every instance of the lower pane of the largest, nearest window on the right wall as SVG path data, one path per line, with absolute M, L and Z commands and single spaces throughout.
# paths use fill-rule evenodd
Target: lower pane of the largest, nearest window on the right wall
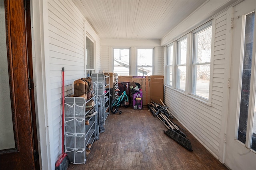
M 209 98 L 210 86 L 210 64 L 194 65 L 194 87 L 193 94 L 203 98 Z

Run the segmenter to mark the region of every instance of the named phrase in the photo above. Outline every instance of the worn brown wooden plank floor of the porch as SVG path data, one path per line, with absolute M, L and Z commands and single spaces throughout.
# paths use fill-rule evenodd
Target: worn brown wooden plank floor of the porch
M 192 152 L 165 135 L 167 128 L 147 108 L 120 110 L 106 119 L 86 164 L 70 164 L 69 170 L 228 170 L 188 131 Z

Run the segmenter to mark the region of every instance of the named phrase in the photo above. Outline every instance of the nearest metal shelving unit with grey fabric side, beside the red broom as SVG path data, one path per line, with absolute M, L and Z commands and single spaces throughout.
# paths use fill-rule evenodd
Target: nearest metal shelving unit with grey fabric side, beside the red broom
M 94 143 L 96 137 L 96 115 L 86 118 L 88 112 L 95 106 L 86 110 L 87 102 L 82 97 L 66 97 L 65 98 L 65 152 L 68 159 L 73 164 L 86 163 L 86 146 Z M 95 100 L 94 100 L 95 101 Z M 89 125 L 85 121 L 89 121 Z

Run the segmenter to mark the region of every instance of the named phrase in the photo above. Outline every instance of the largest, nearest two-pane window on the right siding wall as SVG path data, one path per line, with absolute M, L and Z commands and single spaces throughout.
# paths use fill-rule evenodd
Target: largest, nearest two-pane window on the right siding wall
M 194 31 L 192 63 L 192 94 L 209 98 L 212 25 Z

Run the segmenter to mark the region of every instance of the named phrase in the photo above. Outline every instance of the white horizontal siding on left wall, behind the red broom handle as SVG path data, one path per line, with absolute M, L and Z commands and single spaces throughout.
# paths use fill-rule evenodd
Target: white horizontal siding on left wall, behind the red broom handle
M 49 70 L 55 160 L 62 150 L 62 67 L 65 94 L 74 92 L 73 82 L 85 76 L 84 18 L 72 1 L 48 1 Z

